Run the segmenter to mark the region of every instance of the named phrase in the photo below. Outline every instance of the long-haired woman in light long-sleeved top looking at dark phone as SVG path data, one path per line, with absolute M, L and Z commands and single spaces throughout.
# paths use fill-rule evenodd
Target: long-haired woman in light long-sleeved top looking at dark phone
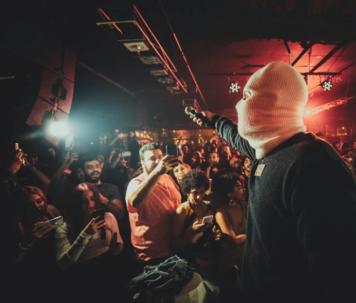
M 116 256 L 122 251 L 123 242 L 114 215 L 105 213 L 103 220 L 98 220 L 99 216 L 93 218 L 94 211 L 101 208 L 95 185 L 82 183 L 73 188 L 68 204 L 68 219 L 55 235 L 60 269 L 67 270 L 74 264 L 86 264 L 89 260 L 101 263 L 106 260 L 105 257 Z

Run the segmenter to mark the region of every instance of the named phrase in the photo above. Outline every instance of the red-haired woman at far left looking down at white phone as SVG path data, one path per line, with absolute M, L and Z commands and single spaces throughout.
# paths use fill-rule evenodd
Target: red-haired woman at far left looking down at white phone
M 21 284 L 21 291 L 28 295 L 38 294 L 38 281 L 43 273 L 57 276 L 59 272 L 53 252 L 55 231 L 51 231 L 51 224 L 42 224 L 61 214 L 48 205 L 45 194 L 38 187 L 23 187 L 13 202 L 9 205 L 11 209 L 3 210 L 0 260 L 4 263 L 0 267 L 7 285 L 18 286 L 19 281 L 26 281 Z M 41 283 L 42 294 L 48 289 L 47 282 Z

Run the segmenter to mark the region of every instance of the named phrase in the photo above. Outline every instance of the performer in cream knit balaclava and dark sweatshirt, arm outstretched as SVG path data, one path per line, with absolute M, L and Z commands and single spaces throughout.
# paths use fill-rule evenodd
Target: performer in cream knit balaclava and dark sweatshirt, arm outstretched
M 272 62 L 243 89 L 237 125 L 202 112 L 253 161 L 242 269 L 248 302 L 355 300 L 356 179 L 331 145 L 305 133 L 307 99 L 302 75 Z

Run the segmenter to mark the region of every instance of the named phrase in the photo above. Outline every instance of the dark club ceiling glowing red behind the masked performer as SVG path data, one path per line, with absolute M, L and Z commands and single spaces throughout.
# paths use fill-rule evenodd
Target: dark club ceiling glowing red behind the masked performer
M 107 127 L 108 122 L 121 128 L 193 128 L 183 113 L 183 99 L 196 98 L 202 108 L 218 113 L 234 109 L 241 93 L 229 93 L 229 84 L 237 81 L 243 88 L 249 74 L 261 66 L 272 61 L 289 63 L 285 42 L 290 48 L 291 62 L 311 46 L 294 65 L 302 73 L 337 73 L 351 65 L 332 78 L 334 87 L 329 92 L 318 86 L 328 77 L 309 75 L 308 107 L 343 98 L 347 89 L 348 96 L 354 96 L 356 1 L 162 0 L 206 106 L 196 91 L 159 1 L 139 0 L 135 5 L 177 66 L 178 77 L 188 85 L 186 94 L 172 94 L 165 89 L 136 58 L 138 53 L 128 51 L 117 41 L 121 34 L 115 28 L 96 24 L 100 19 L 98 7 L 119 20 L 119 14 L 115 15 L 119 10 L 113 8 L 129 7 L 132 3 L 80 3 L 43 0 L 22 8 L 9 7 L 8 11 L 34 24 L 47 36 L 64 41 L 77 53 L 79 61 L 135 94 L 130 96 L 77 65 L 71 116 L 79 121 L 83 113 L 96 116 L 99 128 Z M 14 22 L 13 14 L 9 16 Z M 122 39 L 132 36 L 131 28 L 122 25 L 122 29 Z M 318 64 L 332 50 L 328 60 Z M 349 103 L 351 107 L 347 111 L 352 112 L 354 106 Z M 334 110 L 338 112 L 345 106 L 348 105 Z

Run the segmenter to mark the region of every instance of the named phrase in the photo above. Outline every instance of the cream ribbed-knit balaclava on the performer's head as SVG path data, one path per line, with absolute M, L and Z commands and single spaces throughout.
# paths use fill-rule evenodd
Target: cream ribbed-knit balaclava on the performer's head
M 272 62 L 256 71 L 237 103 L 238 132 L 265 157 L 275 147 L 306 130 L 303 109 L 308 87 L 291 65 Z

